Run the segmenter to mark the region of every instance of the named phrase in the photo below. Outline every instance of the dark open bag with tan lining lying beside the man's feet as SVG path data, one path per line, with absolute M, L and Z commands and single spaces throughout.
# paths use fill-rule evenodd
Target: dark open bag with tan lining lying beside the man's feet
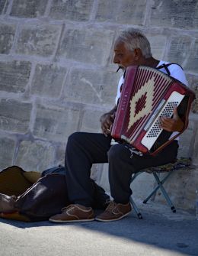
M 62 171 L 63 170 L 63 171 Z M 43 177 L 42 174 L 44 175 Z M 51 168 L 42 174 L 25 172 L 21 167 L 8 167 L 0 173 L 0 193 L 16 196 L 13 210 L 0 217 L 22 221 L 42 221 L 69 205 L 63 167 Z M 37 181 L 36 181 L 37 180 Z M 35 181 L 35 182 L 34 182 Z M 105 209 L 110 197 L 94 180 L 94 208 Z

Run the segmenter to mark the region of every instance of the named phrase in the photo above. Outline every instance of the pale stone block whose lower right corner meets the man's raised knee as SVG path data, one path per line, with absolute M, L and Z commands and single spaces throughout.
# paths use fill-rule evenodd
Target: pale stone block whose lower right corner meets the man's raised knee
M 79 116 L 79 109 L 37 105 L 33 133 L 50 141 L 66 141 L 77 131 Z

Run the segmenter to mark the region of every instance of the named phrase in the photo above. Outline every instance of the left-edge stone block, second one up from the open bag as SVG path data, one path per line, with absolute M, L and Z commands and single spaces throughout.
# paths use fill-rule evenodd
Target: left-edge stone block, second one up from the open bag
M 0 129 L 25 133 L 29 128 L 31 103 L 14 99 L 0 101 Z

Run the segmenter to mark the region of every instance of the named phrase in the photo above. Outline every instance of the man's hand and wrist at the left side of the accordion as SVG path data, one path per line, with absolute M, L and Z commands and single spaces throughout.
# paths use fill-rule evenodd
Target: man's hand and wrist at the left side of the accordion
M 105 136 L 110 134 L 110 128 L 111 125 L 113 125 L 114 121 L 114 113 L 117 111 L 117 105 L 113 107 L 113 109 L 110 110 L 110 112 L 105 113 L 101 116 L 100 122 L 101 122 L 101 129 Z

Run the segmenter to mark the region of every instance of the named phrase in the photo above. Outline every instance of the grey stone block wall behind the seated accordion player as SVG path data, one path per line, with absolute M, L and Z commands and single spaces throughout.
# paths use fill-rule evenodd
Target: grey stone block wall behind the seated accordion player
M 16 164 L 42 171 L 64 164 L 69 134 L 100 131 L 98 119 L 113 107 L 121 75 L 112 64 L 113 41 L 130 27 L 147 35 L 154 57 L 184 67 L 198 97 L 197 0 L 1 0 L 1 170 Z M 196 165 L 197 114 L 196 99 L 179 152 Z M 107 164 L 94 165 L 92 173 L 108 190 Z M 178 206 L 194 207 L 197 173 L 172 179 L 168 190 Z M 136 197 L 153 185 L 142 175 L 134 185 Z

